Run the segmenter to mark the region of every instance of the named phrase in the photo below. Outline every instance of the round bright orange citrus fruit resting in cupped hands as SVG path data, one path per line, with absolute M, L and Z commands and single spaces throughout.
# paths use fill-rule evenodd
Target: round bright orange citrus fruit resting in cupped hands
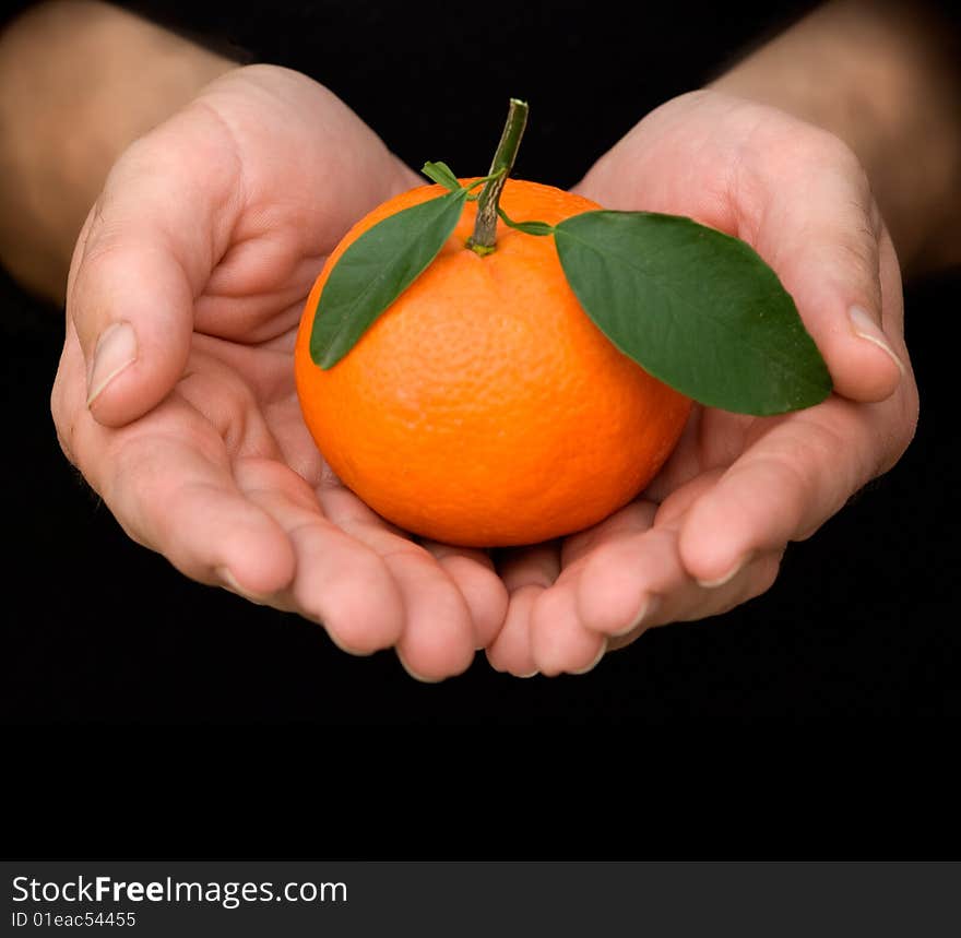
M 414 534 L 494 547 L 588 527 L 651 480 L 690 401 L 588 318 L 551 237 L 498 222 L 496 250 L 479 257 L 465 247 L 476 214 L 468 202 L 430 266 L 344 358 L 329 370 L 310 358 L 317 302 L 347 246 L 444 191 L 424 186 L 389 200 L 328 259 L 297 336 L 304 419 L 341 480 Z M 600 207 L 515 179 L 500 205 L 551 225 Z

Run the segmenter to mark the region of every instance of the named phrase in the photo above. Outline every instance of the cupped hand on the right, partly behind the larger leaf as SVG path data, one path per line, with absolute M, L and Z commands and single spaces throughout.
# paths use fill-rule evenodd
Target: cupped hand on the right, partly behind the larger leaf
M 834 393 L 779 417 L 696 406 L 639 499 L 506 558 L 510 605 L 488 657 L 517 675 L 589 670 L 646 628 L 759 595 L 790 542 L 898 461 L 917 417 L 898 259 L 864 170 L 837 138 L 705 90 L 644 118 L 578 191 L 750 244 L 794 296 Z

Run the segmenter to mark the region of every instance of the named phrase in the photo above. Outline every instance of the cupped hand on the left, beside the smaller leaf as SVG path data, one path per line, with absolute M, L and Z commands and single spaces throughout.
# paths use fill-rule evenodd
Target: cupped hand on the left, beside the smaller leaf
M 486 555 L 415 544 L 340 485 L 293 379 L 327 254 L 418 181 L 305 75 L 222 76 L 110 171 L 74 251 L 52 411 L 133 539 L 438 679 L 491 640 L 503 585 Z

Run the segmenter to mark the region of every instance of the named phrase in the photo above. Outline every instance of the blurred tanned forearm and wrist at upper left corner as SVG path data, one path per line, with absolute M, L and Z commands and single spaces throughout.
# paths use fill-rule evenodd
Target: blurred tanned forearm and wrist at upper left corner
M 110 166 L 234 62 L 99 2 L 50 2 L 0 35 L 0 261 L 59 297 Z

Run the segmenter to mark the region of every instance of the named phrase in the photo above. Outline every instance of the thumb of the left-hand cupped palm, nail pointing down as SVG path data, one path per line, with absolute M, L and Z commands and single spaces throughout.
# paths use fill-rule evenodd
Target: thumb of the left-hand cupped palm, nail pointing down
M 237 210 L 224 131 L 185 111 L 118 161 L 74 251 L 67 314 L 94 416 L 121 426 L 180 378 L 193 301 L 226 249 Z

